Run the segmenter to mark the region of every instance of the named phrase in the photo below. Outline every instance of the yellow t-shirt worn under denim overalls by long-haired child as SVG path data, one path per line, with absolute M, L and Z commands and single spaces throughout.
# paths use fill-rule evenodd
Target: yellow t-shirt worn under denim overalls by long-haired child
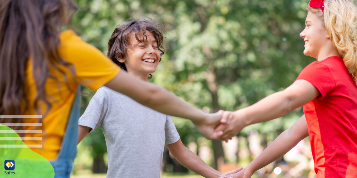
M 31 148 L 46 159 L 54 160 L 60 150 L 65 133 L 67 120 L 74 101 L 78 84 L 87 86 L 91 90 L 97 90 L 113 79 L 120 71 L 119 66 L 108 59 L 97 48 L 82 41 L 73 31 L 67 30 L 60 35 L 59 55 L 74 66 L 76 76 L 71 75 L 70 69 L 59 66 L 67 75 L 67 87 L 65 77 L 59 70 L 50 67 L 50 76 L 56 76 L 59 81 L 49 77 L 45 83 L 47 100 L 51 103 L 51 109 L 46 117 L 43 117 L 42 126 L 36 130 L 42 133 L 26 133 L 25 137 L 42 137 L 42 141 L 24 141 L 26 145 L 42 145 L 42 148 Z M 32 60 L 30 59 L 26 69 L 25 95 L 27 111 L 24 115 L 35 115 L 34 99 L 37 93 L 33 77 Z M 60 85 L 59 85 L 60 83 Z M 40 102 L 42 112 L 45 111 L 44 102 Z M 24 119 L 24 122 L 36 122 L 36 119 Z M 26 130 L 34 129 L 33 126 Z

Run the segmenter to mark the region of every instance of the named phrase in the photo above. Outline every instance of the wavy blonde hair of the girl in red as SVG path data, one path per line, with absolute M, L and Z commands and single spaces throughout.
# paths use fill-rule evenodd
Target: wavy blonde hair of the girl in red
M 333 47 L 343 57 L 345 66 L 350 69 L 353 79 L 357 83 L 357 7 L 353 0 L 324 0 L 324 12 L 320 8 L 307 7 L 319 17 Z

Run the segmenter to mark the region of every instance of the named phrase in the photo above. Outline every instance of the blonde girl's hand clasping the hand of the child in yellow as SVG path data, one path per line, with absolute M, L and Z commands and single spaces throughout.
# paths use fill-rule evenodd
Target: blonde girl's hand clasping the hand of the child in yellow
M 221 124 L 215 129 L 216 133 L 223 131 L 221 140 L 227 141 L 247 126 L 246 118 L 237 111 L 224 111 L 220 120 Z

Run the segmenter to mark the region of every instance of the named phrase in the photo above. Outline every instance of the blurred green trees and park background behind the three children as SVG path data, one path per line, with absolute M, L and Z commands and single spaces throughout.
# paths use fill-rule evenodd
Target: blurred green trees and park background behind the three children
M 107 52 L 114 28 L 146 15 L 166 24 L 168 49 L 150 82 L 207 112 L 237 110 L 288 87 L 315 59 L 304 56 L 307 0 L 74 0 L 82 39 Z M 95 92 L 87 88 L 82 113 Z M 228 143 L 206 140 L 191 121 L 173 118 L 183 144 L 213 168 L 245 167 L 300 116 L 302 108 L 246 127 Z M 118 150 L 120 151 L 120 150 Z M 73 178 L 104 178 L 107 149 L 98 128 L 78 145 Z M 310 142 L 298 143 L 254 178 L 313 178 Z M 162 177 L 199 178 L 165 148 Z

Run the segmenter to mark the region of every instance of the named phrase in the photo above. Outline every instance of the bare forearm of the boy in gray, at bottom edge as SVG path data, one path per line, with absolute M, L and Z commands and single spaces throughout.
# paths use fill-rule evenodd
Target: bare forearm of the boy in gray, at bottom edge
M 175 159 L 187 169 L 206 178 L 217 178 L 221 173 L 208 166 L 195 153 L 185 148 L 180 155 L 173 155 Z

